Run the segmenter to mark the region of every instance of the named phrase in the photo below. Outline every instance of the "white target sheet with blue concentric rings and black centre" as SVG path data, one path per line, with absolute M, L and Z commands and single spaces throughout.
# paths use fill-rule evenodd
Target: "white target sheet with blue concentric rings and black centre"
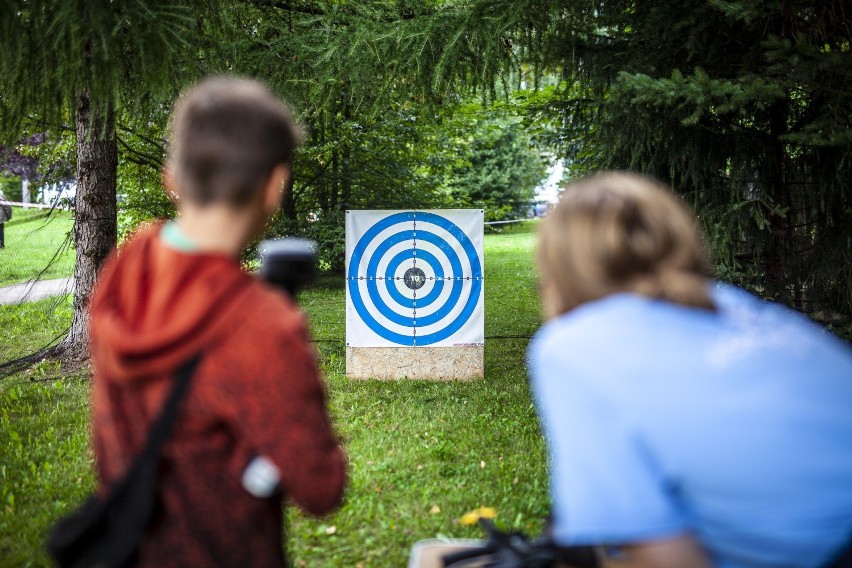
M 346 212 L 346 345 L 485 342 L 481 209 Z

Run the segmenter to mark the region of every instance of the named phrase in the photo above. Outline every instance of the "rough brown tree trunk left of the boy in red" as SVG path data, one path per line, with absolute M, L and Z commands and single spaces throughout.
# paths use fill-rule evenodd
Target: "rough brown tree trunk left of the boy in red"
M 118 147 L 115 115 L 91 108 L 89 95 L 77 98 L 77 195 L 74 199 L 74 317 L 59 345 L 64 360 L 88 356 L 88 303 L 98 270 L 118 238 L 115 188 Z

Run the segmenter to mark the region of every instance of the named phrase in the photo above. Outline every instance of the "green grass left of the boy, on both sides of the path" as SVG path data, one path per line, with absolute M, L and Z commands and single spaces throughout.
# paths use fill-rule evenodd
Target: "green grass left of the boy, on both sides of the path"
M 66 297 L 0 306 L 0 361 L 31 353 L 71 319 Z M 92 489 L 89 381 L 42 363 L 0 379 L 0 565 L 46 566 L 44 532 Z

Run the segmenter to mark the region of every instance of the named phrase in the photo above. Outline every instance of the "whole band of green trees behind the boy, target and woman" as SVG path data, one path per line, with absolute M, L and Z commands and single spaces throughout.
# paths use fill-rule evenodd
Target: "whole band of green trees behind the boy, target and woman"
M 346 208 L 523 201 L 531 152 L 645 172 L 696 208 L 720 278 L 849 333 L 850 21 L 844 0 L 0 0 L 0 118 L 7 143 L 76 120 L 79 167 L 94 109 L 130 229 L 171 211 L 177 93 L 259 78 L 309 132 L 271 230 L 329 268 Z

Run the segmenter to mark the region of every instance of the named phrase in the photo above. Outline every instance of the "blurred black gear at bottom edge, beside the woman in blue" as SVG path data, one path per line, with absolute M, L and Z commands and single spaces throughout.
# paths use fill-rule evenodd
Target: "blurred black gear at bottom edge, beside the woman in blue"
M 503 532 L 485 518 L 479 519 L 479 526 L 488 535 L 485 546 L 447 554 L 443 557 L 446 568 L 552 568 L 562 564 L 594 568 L 600 565 L 591 546 L 563 547 L 546 536 L 529 540 L 519 532 Z

